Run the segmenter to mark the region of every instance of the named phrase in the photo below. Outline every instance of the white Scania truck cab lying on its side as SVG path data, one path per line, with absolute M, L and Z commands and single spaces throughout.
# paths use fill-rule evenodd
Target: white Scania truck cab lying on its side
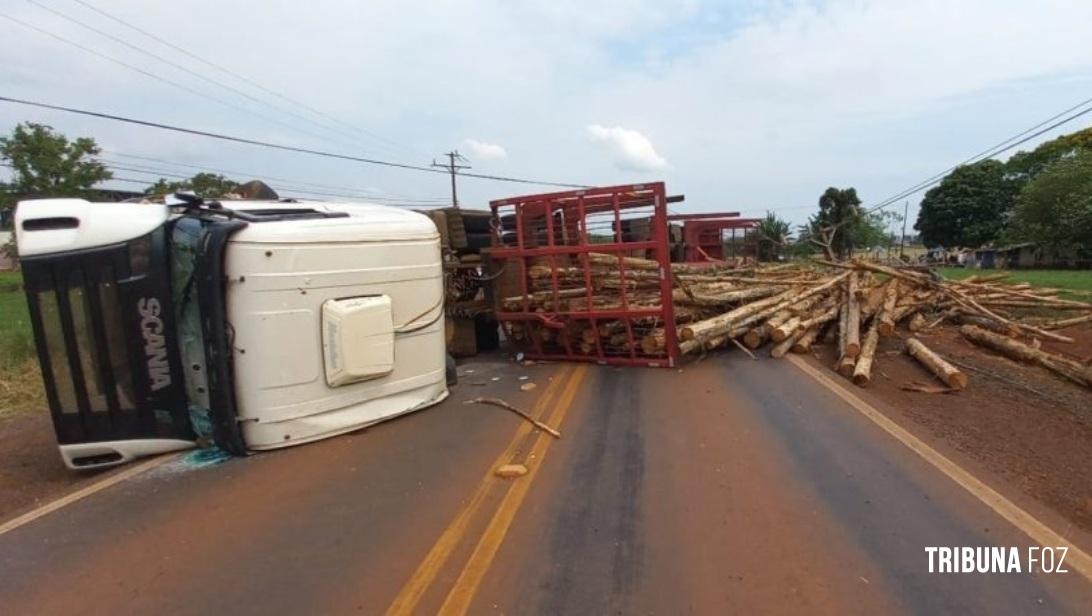
M 447 396 L 429 218 L 347 202 L 174 201 L 16 209 L 70 467 L 292 446 Z

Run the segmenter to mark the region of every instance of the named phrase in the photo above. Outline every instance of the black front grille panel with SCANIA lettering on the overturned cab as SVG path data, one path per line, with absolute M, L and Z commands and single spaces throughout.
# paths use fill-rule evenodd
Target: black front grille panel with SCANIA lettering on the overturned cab
M 193 446 L 168 226 L 22 260 L 46 396 L 72 467 Z

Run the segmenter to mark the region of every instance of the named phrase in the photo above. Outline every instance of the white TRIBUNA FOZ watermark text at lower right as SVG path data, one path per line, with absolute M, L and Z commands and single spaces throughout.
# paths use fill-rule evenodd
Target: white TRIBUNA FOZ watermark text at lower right
M 1068 573 L 1068 547 L 934 547 L 925 548 L 930 573 Z

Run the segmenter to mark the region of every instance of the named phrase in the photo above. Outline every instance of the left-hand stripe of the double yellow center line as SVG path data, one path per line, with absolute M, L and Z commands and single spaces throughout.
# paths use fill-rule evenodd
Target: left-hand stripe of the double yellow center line
M 531 408 L 531 415 L 534 417 L 541 417 L 544 410 L 549 407 L 549 403 L 553 401 L 555 394 L 562 389 L 562 384 L 566 382 L 566 379 L 571 377 L 573 374 L 574 371 L 571 367 L 562 366 L 557 374 L 554 375 L 554 380 L 546 386 L 542 395 L 538 396 L 538 400 Z M 515 430 L 515 434 L 512 436 L 512 440 L 508 443 L 508 447 L 506 447 L 505 451 L 497 457 L 492 464 L 489 465 L 489 469 L 486 471 L 477 490 L 466 505 L 463 506 L 451 523 L 448 524 L 448 528 L 443 530 L 440 537 L 436 540 L 436 544 L 432 545 L 428 555 L 426 555 L 420 565 L 417 566 L 413 576 L 410 577 L 405 585 L 402 587 L 402 590 L 399 591 L 399 594 L 394 597 L 390 607 L 387 608 L 388 616 L 414 613 L 414 609 L 420 602 L 422 596 L 424 596 L 425 591 L 427 591 L 428 587 L 436 580 L 440 569 L 443 568 L 448 558 L 451 557 L 451 553 L 454 552 L 455 547 L 462 542 L 471 520 L 482 508 L 490 488 L 497 485 L 497 482 L 500 481 L 494 476 L 494 469 L 508 463 L 512 457 L 517 454 L 520 446 L 533 429 L 535 429 L 534 426 L 529 423 L 520 424 L 520 427 Z

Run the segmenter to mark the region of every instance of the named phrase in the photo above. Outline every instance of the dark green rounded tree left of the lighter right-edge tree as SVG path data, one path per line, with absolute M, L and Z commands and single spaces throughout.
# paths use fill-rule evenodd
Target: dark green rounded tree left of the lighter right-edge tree
M 999 161 L 962 165 L 925 193 L 914 228 L 929 248 L 994 241 L 1016 203 L 1018 186 Z

